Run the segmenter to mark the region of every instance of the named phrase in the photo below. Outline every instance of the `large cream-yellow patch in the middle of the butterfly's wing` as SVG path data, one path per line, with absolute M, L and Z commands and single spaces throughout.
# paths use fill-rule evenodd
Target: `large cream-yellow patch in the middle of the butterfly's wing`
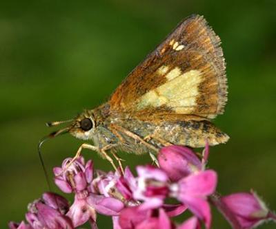
M 179 67 L 175 67 L 166 75 L 167 82 L 141 96 L 138 109 L 146 107 L 161 107 L 166 105 L 176 113 L 190 113 L 197 106 L 201 72 L 190 70 L 181 74 Z

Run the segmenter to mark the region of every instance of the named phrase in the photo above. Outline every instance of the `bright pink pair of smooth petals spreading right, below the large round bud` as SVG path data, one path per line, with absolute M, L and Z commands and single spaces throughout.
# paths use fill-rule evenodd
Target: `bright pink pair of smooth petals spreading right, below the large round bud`
M 210 228 L 211 213 L 207 197 L 215 192 L 216 186 L 215 171 L 200 171 L 180 179 L 177 184 L 172 184 L 170 195 L 177 197 L 191 212 L 204 221 L 206 228 Z

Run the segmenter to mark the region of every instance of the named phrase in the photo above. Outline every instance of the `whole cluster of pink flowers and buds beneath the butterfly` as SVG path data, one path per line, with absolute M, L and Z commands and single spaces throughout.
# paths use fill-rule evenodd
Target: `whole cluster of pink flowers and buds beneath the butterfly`
M 63 193 L 73 193 L 71 206 L 54 193 L 45 193 L 28 206 L 26 220 L 10 222 L 11 229 L 77 228 L 89 222 L 97 228 L 97 213 L 112 217 L 114 229 L 200 229 L 210 228 L 213 204 L 235 229 L 276 220 L 264 202 L 251 193 L 220 197 L 215 192 L 217 173 L 206 169 L 208 145 L 201 159 L 184 146 L 166 146 L 158 154 L 159 168 L 137 166 L 137 175 L 95 171 L 83 157 L 63 161 L 53 169 L 55 184 Z M 168 204 L 174 199 L 175 204 Z M 189 211 L 192 217 L 175 223 L 172 217 Z

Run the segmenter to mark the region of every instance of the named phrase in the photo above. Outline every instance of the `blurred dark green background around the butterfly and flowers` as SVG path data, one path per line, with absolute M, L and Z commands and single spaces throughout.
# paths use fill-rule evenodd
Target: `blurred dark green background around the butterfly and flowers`
M 219 34 L 229 102 L 215 123 L 230 135 L 211 149 L 222 194 L 257 190 L 276 210 L 276 1 L 2 1 L 0 8 L 0 228 L 20 221 L 47 190 L 37 142 L 44 123 L 74 117 L 108 99 L 128 72 L 181 19 L 203 14 Z M 54 128 L 55 129 L 55 128 Z M 81 141 L 43 147 L 50 172 Z M 110 169 L 96 153 L 84 155 Z M 132 168 L 148 157 L 122 155 Z M 214 212 L 213 228 L 230 228 Z M 99 217 L 99 228 L 110 220 Z M 276 228 L 268 223 L 262 228 Z

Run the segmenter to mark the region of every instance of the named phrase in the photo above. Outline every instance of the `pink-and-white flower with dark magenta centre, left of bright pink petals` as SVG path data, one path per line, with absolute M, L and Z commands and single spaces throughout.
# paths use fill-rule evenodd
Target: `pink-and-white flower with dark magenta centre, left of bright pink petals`
M 139 205 L 140 210 L 162 207 L 170 216 L 180 215 L 186 210 L 183 204 L 164 204 L 170 191 L 168 176 L 164 171 L 153 166 L 137 166 L 137 173 L 138 177 L 134 177 L 126 167 L 124 177 L 117 180 L 117 192 L 126 200 L 126 206 Z

